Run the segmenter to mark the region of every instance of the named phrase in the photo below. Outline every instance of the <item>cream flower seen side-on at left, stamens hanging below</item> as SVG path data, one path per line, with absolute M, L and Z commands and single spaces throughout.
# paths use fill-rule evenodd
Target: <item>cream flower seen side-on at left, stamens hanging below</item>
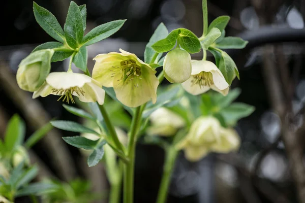
M 84 74 L 71 72 L 50 73 L 45 83 L 34 92 L 33 98 L 50 94 L 59 95 L 58 100 L 63 99 L 67 103 L 74 103 L 72 95 L 86 103 L 98 101 L 100 105 L 104 104 L 105 98 L 105 90 L 98 81 Z

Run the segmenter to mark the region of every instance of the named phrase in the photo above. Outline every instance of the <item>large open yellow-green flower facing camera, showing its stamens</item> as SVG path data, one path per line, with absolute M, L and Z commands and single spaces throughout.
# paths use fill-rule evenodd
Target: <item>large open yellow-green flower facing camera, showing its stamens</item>
M 117 99 L 128 107 L 138 107 L 150 98 L 155 104 L 159 85 L 156 71 L 135 54 L 120 52 L 97 55 L 92 77 L 105 87 L 113 87 Z

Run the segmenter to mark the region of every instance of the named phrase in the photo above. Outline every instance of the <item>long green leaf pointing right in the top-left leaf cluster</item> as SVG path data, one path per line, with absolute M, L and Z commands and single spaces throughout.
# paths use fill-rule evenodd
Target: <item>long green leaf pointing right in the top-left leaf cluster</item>
M 124 25 L 125 21 L 126 20 L 114 20 L 95 27 L 84 37 L 82 45 L 88 46 L 112 36 Z

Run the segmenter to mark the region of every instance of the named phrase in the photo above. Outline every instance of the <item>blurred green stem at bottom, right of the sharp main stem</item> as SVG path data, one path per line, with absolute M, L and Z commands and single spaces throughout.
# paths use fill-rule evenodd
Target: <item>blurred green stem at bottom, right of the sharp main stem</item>
M 171 146 L 165 150 L 165 162 L 163 166 L 163 176 L 159 187 L 157 203 L 165 203 L 167 198 L 168 187 L 171 180 L 171 175 L 175 165 L 175 160 L 178 155 L 178 151 Z

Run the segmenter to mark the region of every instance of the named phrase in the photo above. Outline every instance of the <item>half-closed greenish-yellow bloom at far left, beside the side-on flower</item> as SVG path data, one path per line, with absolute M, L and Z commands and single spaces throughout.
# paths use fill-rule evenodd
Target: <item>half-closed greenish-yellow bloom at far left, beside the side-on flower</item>
M 21 89 L 34 92 L 44 83 L 50 73 L 53 53 L 52 49 L 36 51 L 20 62 L 16 79 Z

